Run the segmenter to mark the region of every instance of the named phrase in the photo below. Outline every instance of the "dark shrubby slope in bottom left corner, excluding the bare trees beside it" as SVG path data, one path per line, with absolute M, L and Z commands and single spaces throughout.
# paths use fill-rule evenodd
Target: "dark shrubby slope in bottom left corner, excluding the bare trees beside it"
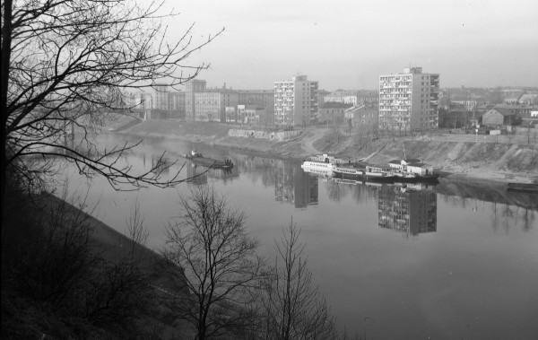
M 10 190 L 2 231 L 3 339 L 160 339 L 162 266 L 137 215 L 124 237 L 65 200 Z M 64 197 L 67 198 L 67 197 Z M 169 327 L 168 327 L 169 328 Z

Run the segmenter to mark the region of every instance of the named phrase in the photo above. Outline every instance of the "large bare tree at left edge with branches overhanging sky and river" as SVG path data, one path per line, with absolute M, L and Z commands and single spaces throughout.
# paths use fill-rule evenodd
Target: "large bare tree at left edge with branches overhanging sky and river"
M 140 174 L 121 165 L 120 156 L 135 144 L 107 150 L 89 138 L 108 112 L 133 108 L 126 91 L 151 87 L 159 79 L 171 86 L 185 83 L 208 66 L 185 63 L 221 31 L 195 42 L 188 29 L 169 44 L 161 20 L 172 15 L 162 13 L 162 0 L 143 5 L 134 0 L 2 1 L 3 207 L 6 170 L 31 180 L 39 172 L 32 172 L 32 157 L 72 161 L 82 174 L 106 176 L 115 187 L 181 182 L 163 179 L 161 170 L 154 171 L 160 164 Z M 65 143 L 65 135 L 74 132 L 78 140 Z M 43 162 L 40 168 L 48 169 Z

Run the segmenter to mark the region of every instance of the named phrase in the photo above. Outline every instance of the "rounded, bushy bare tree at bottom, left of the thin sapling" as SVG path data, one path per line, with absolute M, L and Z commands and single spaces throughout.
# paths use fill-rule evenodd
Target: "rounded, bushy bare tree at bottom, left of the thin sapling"
M 192 189 L 188 199 L 181 198 L 181 208 L 178 222 L 167 228 L 164 251 L 184 269 L 177 279 L 190 291 L 177 297 L 178 318 L 195 326 L 198 339 L 248 327 L 263 261 L 256 255 L 257 240 L 243 226 L 245 214 L 210 187 Z

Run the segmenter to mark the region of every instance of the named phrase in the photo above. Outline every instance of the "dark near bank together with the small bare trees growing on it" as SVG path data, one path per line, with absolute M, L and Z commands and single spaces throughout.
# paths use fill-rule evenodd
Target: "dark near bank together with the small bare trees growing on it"
M 268 263 L 245 215 L 212 187 L 182 197 L 161 254 L 136 205 L 126 236 L 50 194 L 10 187 L 3 339 L 335 339 L 291 222 Z M 87 210 L 87 208 L 86 208 Z

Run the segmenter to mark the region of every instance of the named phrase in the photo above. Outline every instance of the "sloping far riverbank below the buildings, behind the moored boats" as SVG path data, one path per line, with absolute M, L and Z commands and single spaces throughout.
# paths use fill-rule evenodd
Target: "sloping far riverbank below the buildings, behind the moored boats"
M 467 141 L 468 135 L 389 136 L 367 140 L 358 131 L 335 133 L 325 127 L 308 128 L 297 138 L 275 142 L 267 139 L 232 137 L 230 128 L 219 123 L 144 121 L 120 133 L 178 138 L 215 146 L 269 154 L 275 158 L 304 159 L 313 154 L 332 153 L 340 158 L 368 158 L 377 164 L 394 159 L 416 158 L 430 163 L 447 179 L 474 183 L 538 182 L 538 144 L 513 144 L 493 140 Z M 514 139 L 516 140 L 516 138 Z

